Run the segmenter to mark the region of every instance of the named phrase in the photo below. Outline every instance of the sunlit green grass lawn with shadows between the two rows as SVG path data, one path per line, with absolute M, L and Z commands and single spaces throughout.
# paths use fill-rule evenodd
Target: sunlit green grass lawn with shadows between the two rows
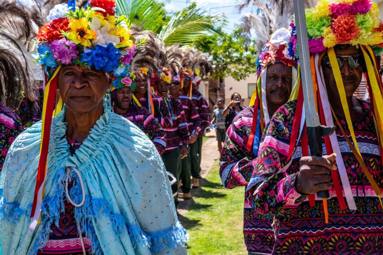
M 179 216 L 190 235 L 189 255 L 247 254 L 242 233 L 244 187 L 225 189 L 218 168 L 217 161 L 195 192 L 187 213 Z

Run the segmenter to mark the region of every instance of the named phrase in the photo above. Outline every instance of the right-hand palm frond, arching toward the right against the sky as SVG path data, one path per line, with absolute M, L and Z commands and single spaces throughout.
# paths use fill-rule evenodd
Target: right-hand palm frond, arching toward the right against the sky
M 158 38 L 164 41 L 166 46 L 170 46 L 175 43 L 193 44 L 196 38 L 201 36 L 212 34 L 224 36 L 224 33 L 217 29 L 222 20 L 221 14 L 212 14 L 203 7 L 193 7 L 187 13 L 181 12 L 173 17 L 162 28 Z

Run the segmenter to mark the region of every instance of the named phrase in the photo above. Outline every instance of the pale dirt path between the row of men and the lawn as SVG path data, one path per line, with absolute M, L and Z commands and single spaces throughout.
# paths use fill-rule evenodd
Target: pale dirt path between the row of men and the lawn
M 207 133 L 206 136 L 210 137 L 203 145 L 202 145 L 202 159 L 201 159 L 201 176 L 202 179 L 200 179 L 200 187 L 203 186 L 203 180 L 205 180 L 206 175 L 209 173 L 210 168 L 213 166 L 213 163 L 219 159 L 219 153 L 217 148 L 217 141 L 215 140 L 215 132 L 212 130 L 211 132 Z M 194 192 L 198 190 L 191 189 L 191 195 L 193 196 Z M 178 200 L 180 201 L 180 204 L 178 204 L 177 211 L 181 215 L 184 215 L 187 211 L 189 202 L 193 199 L 187 199 L 184 200 L 182 198 L 183 193 L 180 189 L 178 191 Z

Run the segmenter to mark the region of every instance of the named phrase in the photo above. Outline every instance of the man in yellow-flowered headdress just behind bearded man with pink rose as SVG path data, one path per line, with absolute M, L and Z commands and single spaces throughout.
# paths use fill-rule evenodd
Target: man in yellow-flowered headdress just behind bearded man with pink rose
M 173 121 L 172 127 L 164 128 L 166 150 L 164 154 L 162 154 L 162 160 L 164 161 L 167 172 L 172 173 L 177 179 L 178 190 L 182 170 L 181 160 L 188 155 L 190 136 L 181 101 L 169 95 L 169 86 L 171 84 L 172 73 L 166 67 L 161 67 L 154 77 L 154 87 L 157 95 L 164 99 Z M 177 196 L 175 196 L 174 202 L 177 208 L 179 203 Z

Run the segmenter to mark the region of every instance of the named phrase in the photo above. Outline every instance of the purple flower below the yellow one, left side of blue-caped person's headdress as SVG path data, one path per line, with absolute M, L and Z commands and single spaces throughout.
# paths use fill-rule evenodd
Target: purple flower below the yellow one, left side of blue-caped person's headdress
M 72 64 L 72 59 L 77 59 L 79 51 L 76 51 L 76 44 L 66 38 L 54 40 L 50 44 L 54 60 L 64 65 Z

